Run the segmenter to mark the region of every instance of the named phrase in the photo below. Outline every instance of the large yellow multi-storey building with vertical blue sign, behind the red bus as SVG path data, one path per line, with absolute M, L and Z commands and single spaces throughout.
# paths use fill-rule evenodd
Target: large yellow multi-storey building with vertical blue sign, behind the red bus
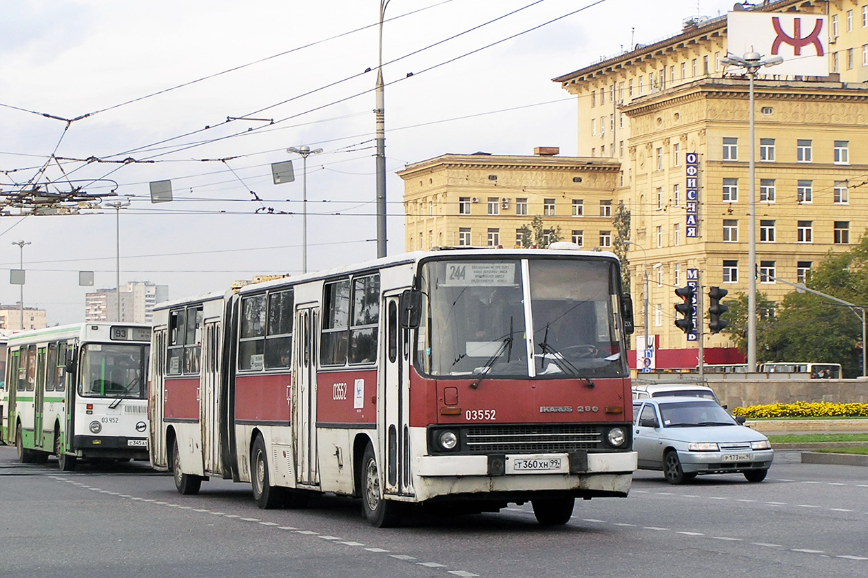
M 868 0 L 779 0 L 745 9 L 823 14 L 829 33 L 828 76 L 764 68 L 754 88 L 753 274 L 757 289 L 777 301 L 792 290 L 779 280 L 803 281 L 826 253 L 847 250 L 868 228 Z M 528 206 L 531 218 L 545 214 L 545 199 L 556 199 L 553 216 L 567 219 L 557 222 L 568 233 L 563 239 L 581 231 L 591 249 L 604 246 L 600 231 L 615 230 L 597 211 L 591 221 L 590 207 L 605 201 L 614 214 L 622 202 L 631 218 L 627 265 L 636 333 L 645 333 L 648 303 L 657 367 L 693 367 L 697 342 L 674 327 L 674 289 L 698 273 L 706 293 L 718 285 L 733 297 L 746 292 L 752 274 L 748 80 L 741 68 L 721 62 L 726 56 L 727 17 L 689 18 L 679 35 L 554 79 L 575 95 L 579 157 L 446 155 L 408 166 L 399 173 L 407 248 L 492 244 L 492 238 L 511 245 L 519 221 L 530 220 L 515 214 L 515 198 L 526 198 L 536 205 Z M 582 181 L 570 179 L 572 173 Z M 462 198 L 471 199 L 470 213 L 462 212 Z M 492 212 L 490 198 L 510 203 Z M 571 218 L 573 199 L 583 201 L 584 220 Z M 581 228 L 574 225 L 580 221 Z M 706 331 L 704 345 L 722 351 L 730 344 L 725 334 Z

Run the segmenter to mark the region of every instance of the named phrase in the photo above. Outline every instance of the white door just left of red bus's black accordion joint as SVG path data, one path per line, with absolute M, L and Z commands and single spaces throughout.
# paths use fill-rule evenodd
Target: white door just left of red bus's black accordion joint
M 220 473 L 220 320 L 205 321 L 202 340 L 200 416 L 205 472 Z

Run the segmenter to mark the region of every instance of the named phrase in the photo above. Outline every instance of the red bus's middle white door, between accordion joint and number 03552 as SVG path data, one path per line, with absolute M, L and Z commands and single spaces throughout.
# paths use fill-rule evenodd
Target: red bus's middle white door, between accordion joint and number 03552
M 293 437 L 296 482 L 319 485 L 317 455 L 317 328 L 319 305 L 301 305 L 295 314 L 293 367 Z

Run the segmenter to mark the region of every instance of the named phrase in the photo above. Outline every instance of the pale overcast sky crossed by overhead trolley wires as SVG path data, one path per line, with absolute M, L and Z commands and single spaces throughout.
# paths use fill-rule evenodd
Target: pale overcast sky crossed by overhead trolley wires
M 300 272 L 302 164 L 286 148 L 308 145 L 324 149 L 307 161 L 308 270 L 376 257 L 378 6 L 5 2 L 0 189 L 114 190 L 104 202 L 130 202 L 120 211 L 121 283 L 165 284 L 174 299 Z M 404 183 L 395 172 L 444 153 L 559 146 L 575 155 L 575 102 L 552 78 L 732 6 L 391 0 L 383 42 L 390 255 L 404 250 Z M 273 185 L 271 164 L 288 159 L 297 161 L 296 181 Z M 174 202 L 151 204 L 148 182 L 165 179 Z M 25 306 L 45 308 L 50 325 L 81 321 L 85 293 L 115 287 L 115 218 L 107 208 L 0 218 L 0 302 L 18 300 L 13 243 L 29 241 Z M 80 270 L 95 271 L 93 288 L 78 286 Z

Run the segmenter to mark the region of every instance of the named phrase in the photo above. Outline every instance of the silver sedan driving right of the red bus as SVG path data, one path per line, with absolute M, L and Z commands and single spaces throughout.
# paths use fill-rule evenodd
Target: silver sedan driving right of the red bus
M 748 482 L 766 479 L 774 458 L 768 438 L 740 425 L 713 401 L 643 399 L 633 409 L 633 449 L 640 469 L 662 470 L 670 484 L 698 474 L 734 472 Z

